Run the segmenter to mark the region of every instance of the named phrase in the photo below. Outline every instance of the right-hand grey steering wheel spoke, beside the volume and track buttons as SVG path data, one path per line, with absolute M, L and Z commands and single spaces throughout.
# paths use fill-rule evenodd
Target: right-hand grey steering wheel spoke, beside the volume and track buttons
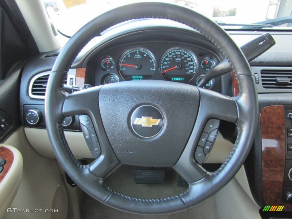
M 218 129 L 218 120 L 236 122 L 238 114 L 237 104 L 233 98 L 203 88 L 199 88 L 199 92 L 200 108 L 194 129 L 180 159 L 173 166 L 188 183 L 194 183 L 202 179 L 206 173 L 204 168 L 198 164 L 204 161 L 207 155 L 207 152 L 204 151 L 204 145 L 203 147 L 198 146 L 200 142 L 203 141 L 212 145 L 213 142 L 207 141 L 207 136 L 213 129 Z M 196 156 L 200 156 L 199 159 L 196 158 L 197 161 Z

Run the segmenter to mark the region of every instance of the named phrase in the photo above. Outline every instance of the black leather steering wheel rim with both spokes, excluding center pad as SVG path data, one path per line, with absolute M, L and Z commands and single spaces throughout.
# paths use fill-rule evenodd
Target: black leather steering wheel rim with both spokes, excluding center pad
M 105 93 L 101 90 L 102 86 L 67 95 L 63 92 L 62 82 L 73 60 L 89 40 L 109 27 L 139 18 L 169 19 L 198 30 L 212 41 L 229 60 L 240 88 L 239 95 L 234 98 L 225 97 L 201 88 L 190 88 L 199 91 L 200 108 L 188 143 L 173 166 L 188 181 L 189 188 L 183 194 L 161 199 L 128 197 L 111 190 L 105 184 L 104 179 L 119 166 L 120 162 L 109 141 L 101 140 L 102 154 L 93 164 L 81 165 L 72 154 L 62 129 L 62 120 L 65 117 L 73 114 L 88 114 L 93 119 L 94 127 L 101 132 L 100 135 L 106 136 L 101 118 L 94 118 L 96 114 L 100 115 L 98 103 L 94 105 L 95 108 L 97 107 L 95 114 L 91 112 L 92 110 L 84 109 L 85 107 L 77 106 L 76 109 L 71 109 L 77 101 L 79 101 L 79 105 L 88 102 L 88 100 L 98 102 L 100 93 Z M 45 113 L 48 135 L 56 157 L 64 170 L 81 189 L 95 199 L 114 208 L 132 213 L 161 214 L 176 212 L 189 208 L 215 194 L 231 180 L 244 163 L 252 145 L 258 120 L 255 83 L 250 66 L 241 50 L 221 27 L 203 15 L 187 8 L 165 3 L 137 3 L 122 6 L 88 22 L 72 36 L 60 52 L 59 57 L 53 66 L 46 89 Z M 132 86 L 132 84 L 133 82 L 128 82 L 127 85 Z M 166 86 L 168 85 L 166 84 Z M 183 86 L 185 85 L 178 87 L 184 89 Z M 84 100 L 85 96 L 87 100 Z M 219 103 L 216 103 L 216 101 Z M 216 104 L 216 110 L 212 109 L 214 104 Z M 229 110 L 228 114 L 226 114 L 227 109 Z M 236 123 L 238 129 L 237 140 L 230 155 L 222 166 L 212 173 L 195 164 L 193 156 L 194 144 L 198 142 L 199 138 L 197 133 L 202 131 L 201 124 L 206 124 L 206 121 L 210 118 L 232 121 Z

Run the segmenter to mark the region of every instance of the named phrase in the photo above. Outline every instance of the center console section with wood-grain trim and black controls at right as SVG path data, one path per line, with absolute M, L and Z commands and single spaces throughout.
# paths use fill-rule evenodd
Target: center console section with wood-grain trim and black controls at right
M 265 204 L 292 211 L 292 105 L 264 107 L 260 129 Z

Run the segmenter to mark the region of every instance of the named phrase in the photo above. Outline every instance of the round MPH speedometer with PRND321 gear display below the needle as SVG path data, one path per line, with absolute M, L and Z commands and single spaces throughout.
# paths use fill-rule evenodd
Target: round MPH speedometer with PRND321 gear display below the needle
M 160 72 L 169 81 L 190 81 L 196 70 L 196 56 L 182 48 L 173 48 L 167 51 L 160 62 Z

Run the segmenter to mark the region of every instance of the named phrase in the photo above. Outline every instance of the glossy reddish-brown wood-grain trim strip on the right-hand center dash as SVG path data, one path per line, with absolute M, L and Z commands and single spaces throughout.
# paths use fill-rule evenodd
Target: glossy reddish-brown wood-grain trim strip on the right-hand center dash
M 284 107 L 264 107 L 260 112 L 260 127 L 264 201 L 267 205 L 284 205 L 284 211 L 291 211 L 292 206 L 282 201 L 286 150 Z

